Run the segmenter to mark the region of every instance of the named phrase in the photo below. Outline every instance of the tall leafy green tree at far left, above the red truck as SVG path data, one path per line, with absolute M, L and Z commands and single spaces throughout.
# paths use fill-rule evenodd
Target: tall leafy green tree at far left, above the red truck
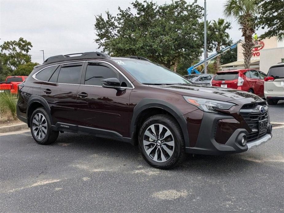
M 22 37 L 18 41 L 5 41 L 0 45 L 2 63 L 11 70 L 15 70 L 19 65 L 30 62 L 28 53 L 32 47 L 32 43 Z

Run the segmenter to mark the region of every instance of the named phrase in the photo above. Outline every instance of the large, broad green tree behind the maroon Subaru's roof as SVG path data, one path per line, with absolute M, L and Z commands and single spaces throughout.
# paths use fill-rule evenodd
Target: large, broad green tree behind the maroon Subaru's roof
M 111 56 L 138 55 L 177 70 L 183 61 L 200 57 L 203 8 L 184 0 L 158 6 L 152 1 L 132 2 L 133 10 L 120 7 L 117 16 L 95 17 L 95 42 Z M 133 11 L 133 12 L 132 12 Z

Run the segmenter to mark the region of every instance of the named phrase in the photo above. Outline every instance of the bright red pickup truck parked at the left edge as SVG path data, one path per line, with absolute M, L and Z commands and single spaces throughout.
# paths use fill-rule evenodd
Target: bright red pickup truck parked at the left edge
M 10 91 L 12 94 L 18 93 L 18 84 L 22 83 L 28 76 L 8 76 L 5 82 L 0 82 L 0 93 Z

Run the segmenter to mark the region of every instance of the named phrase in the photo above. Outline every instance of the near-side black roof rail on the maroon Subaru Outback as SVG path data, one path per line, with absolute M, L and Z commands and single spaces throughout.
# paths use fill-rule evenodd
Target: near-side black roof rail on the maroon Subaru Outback
M 72 55 L 80 55 L 80 56 L 72 56 Z M 53 62 L 67 61 L 67 60 L 94 59 L 94 58 L 110 58 L 110 57 L 102 52 L 80 52 L 80 53 L 72 53 L 67 55 L 51 56 L 48 59 L 46 59 L 43 62 L 43 64 L 49 64 Z

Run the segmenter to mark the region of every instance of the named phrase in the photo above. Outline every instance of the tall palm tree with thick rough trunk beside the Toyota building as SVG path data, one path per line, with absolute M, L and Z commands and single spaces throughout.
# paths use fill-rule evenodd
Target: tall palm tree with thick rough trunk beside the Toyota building
M 254 46 L 252 35 L 255 33 L 256 17 L 259 5 L 258 0 L 227 0 L 224 4 L 225 17 L 234 17 L 242 30 L 245 42 L 242 43 L 244 67 L 247 69 L 251 64 L 251 50 Z

